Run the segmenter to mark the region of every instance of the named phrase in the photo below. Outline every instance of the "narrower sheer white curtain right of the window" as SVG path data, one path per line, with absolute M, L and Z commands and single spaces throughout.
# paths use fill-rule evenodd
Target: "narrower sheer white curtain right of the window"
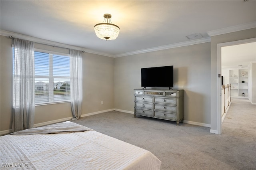
M 82 51 L 70 49 L 70 95 L 72 120 L 80 119 L 83 101 Z

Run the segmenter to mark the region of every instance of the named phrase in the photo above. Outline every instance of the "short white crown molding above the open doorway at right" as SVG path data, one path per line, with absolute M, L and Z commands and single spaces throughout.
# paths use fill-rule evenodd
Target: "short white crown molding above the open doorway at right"
M 227 34 L 230 32 L 236 32 L 236 31 L 242 31 L 242 30 L 247 30 L 250 28 L 256 28 L 256 22 L 249 22 L 246 24 L 241 24 L 241 25 L 237 25 L 237 26 L 231 26 L 231 27 L 226 27 L 226 28 L 221 28 L 218 30 L 212 30 L 212 31 L 208 31 L 206 32 L 210 37 L 212 36 L 218 36 L 221 34 Z

